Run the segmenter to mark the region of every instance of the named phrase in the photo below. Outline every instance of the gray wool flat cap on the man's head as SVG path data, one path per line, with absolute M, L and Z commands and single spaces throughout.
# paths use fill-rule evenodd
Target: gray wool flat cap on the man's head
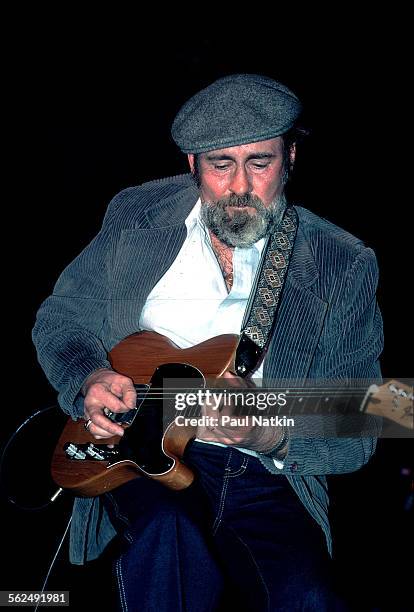
M 300 101 L 285 85 L 257 74 L 233 74 L 190 98 L 171 134 L 183 153 L 205 153 L 280 136 L 300 111 Z

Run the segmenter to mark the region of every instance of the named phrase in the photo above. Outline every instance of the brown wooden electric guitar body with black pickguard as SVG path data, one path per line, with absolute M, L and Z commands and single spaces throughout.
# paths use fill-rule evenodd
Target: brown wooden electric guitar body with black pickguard
M 174 416 L 165 403 L 174 396 L 171 381 L 176 380 L 178 388 L 184 379 L 186 387 L 204 388 L 206 378 L 233 369 L 238 340 L 225 334 L 187 349 L 148 331 L 122 340 L 109 353 L 109 361 L 136 385 L 137 410 L 117 415 L 117 421 L 128 424 L 124 436 L 105 440 L 88 433 L 83 420 L 69 419 L 52 459 L 56 484 L 81 497 L 101 495 L 143 475 L 171 489 L 188 487 L 194 475 L 181 457 L 196 428 L 177 426 L 174 418 L 166 421 L 166 414 Z M 164 380 L 168 391 L 163 390 Z

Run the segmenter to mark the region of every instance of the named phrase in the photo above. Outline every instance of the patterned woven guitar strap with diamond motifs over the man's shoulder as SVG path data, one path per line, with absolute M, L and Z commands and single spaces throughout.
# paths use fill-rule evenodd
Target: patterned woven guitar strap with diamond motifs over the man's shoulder
M 256 370 L 272 337 L 297 227 L 296 210 L 287 206 L 277 230 L 268 238 L 236 350 L 235 373 L 242 378 Z

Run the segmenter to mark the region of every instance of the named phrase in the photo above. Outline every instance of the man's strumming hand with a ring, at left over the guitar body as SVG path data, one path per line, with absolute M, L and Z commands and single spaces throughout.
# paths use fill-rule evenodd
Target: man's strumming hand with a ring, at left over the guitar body
M 123 436 L 124 428 L 107 416 L 104 410 L 128 412 L 135 408 L 136 391 L 127 376 L 102 368 L 88 376 L 82 386 L 84 418 L 90 421 L 88 431 L 97 439 Z

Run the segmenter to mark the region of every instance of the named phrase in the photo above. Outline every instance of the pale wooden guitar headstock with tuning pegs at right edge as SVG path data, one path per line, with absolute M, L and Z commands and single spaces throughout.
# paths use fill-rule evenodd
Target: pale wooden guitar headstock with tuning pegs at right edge
M 398 380 L 389 380 L 381 386 L 371 385 L 367 400 L 365 412 L 414 430 L 413 385 Z

